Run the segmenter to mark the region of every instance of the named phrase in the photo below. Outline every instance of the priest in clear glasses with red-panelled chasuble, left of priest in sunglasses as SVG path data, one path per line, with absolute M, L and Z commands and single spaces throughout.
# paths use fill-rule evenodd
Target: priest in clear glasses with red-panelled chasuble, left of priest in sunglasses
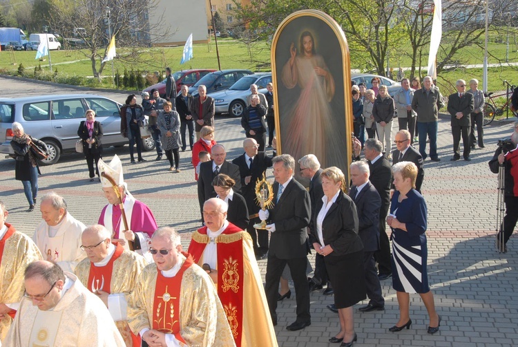
M 140 347 L 140 337 L 132 334 L 128 326 L 127 299 L 147 265 L 146 260 L 136 252 L 124 250 L 119 243 L 112 243 L 111 232 L 103 225 L 84 229 L 81 248 L 87 258 L 75 268 L 77 278 L 104 302 L 126 346 Z

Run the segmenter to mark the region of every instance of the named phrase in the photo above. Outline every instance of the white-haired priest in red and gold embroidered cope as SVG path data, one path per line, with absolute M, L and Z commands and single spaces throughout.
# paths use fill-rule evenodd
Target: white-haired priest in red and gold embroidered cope
M 227 221 L 227 209 L 218 198 L 204 203 L 206 226 L 193 234 L 189 254 L 210 266 L 236 346 L 277 346 L 251 237 Z

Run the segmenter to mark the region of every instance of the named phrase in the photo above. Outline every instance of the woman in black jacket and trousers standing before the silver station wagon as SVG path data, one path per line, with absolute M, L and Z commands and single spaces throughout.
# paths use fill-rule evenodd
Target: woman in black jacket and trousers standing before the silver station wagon
M 102 158 L 102 126 L 101 123 L 95 120 L 95 111 L 86 110 L 86 120 L 83 120 L 79 124 L 77 129 L 77 135 L 83 141 L 83 153 L 86 158 L 86 165 L 88 165 L 88 171 L 90 173 L 90 182 L 93 182 L 95 173 L 99 178 L 99 169 L 97 169 L 97 162 Z M 93 164 L 95 162 L 95 173 L 93 171 Z M 99 180 L 101 180 L 99 178 Z

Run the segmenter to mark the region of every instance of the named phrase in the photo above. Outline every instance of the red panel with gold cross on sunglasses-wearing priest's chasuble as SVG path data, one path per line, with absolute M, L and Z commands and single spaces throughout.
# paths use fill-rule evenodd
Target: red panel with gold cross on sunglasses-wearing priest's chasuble
M 186 260 L 174 277 L 164 277 L 162 272 L 157 269 L 155 299 L 153 300 L 153 329 L 173 334 L 178 341 L 185 344 L 180 335 L 180 293 L 182 292 L 184 272 L 193 265 L 193 259 L 189 254 L 184 252 L 182 254 L 186 256 Z

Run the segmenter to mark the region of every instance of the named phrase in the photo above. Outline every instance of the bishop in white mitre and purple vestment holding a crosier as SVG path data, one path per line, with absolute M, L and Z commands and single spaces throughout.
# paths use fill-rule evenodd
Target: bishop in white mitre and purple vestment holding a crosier
M 112 233 L 112 241 L 119 242 L 125 250 L 133 248 L 148 261 L 151 260 L 151 257 L 147 258 L 148 242 L 157 229 L 151 209 L 129 193 L 124 182 L 122 162 L 116 154 L 109 164 L 100 159 L 97 167 L 102 190 L 108 200 L 98 224 L 104 225 Z

